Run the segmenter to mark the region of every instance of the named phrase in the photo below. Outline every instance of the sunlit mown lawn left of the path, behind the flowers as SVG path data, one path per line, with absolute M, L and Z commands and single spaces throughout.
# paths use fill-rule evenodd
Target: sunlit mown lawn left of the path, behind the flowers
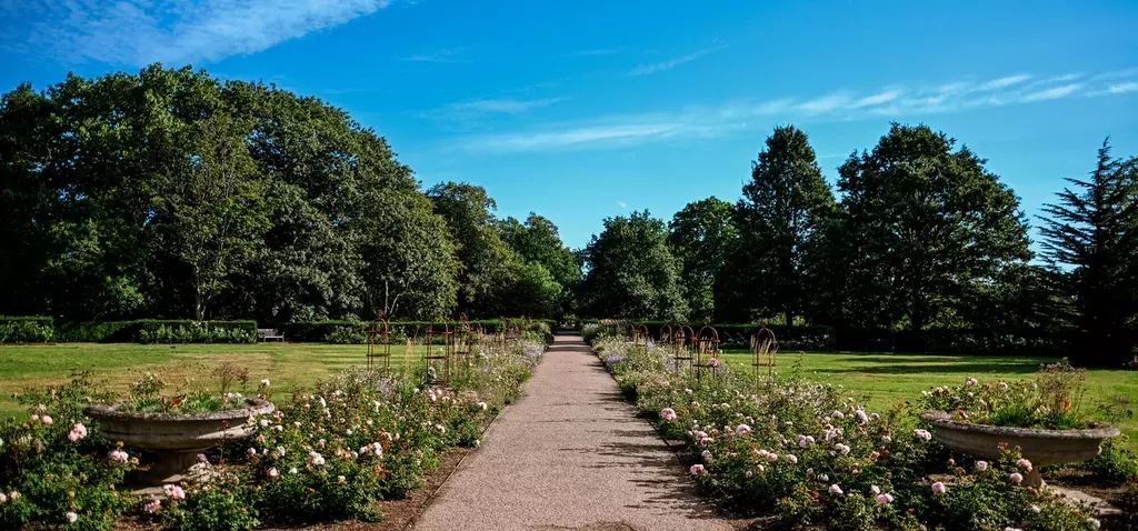
M 407 355 L 410 363 L 424 363 L 424 349 L 415 347 Z M 27 415 L 13 393 L 56 387 L 81 371 L 90 371 L 97 383 L 121 392 L 142 372 L 152 372 L 166 382 L 166 392 L 179 392 L 216 388 L 211 372 L 230 360 L 249 370 L 246 390 L 255 390 L 267 377 L 273 391 L 282 393 L 310 388 L 351 366 L 366 366 L 366 355 L 368 347 L 363 345 L 325 343 L 0 346 L 0 418 Z M 398 370 L 403 359 L 404 346 L 391 346 L 393 370 Z

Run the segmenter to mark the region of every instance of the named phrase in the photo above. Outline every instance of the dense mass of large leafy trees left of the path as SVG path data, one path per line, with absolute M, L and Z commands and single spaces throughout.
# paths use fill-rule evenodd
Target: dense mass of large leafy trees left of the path
M 160 65 L 22 84 L 0 99 L 0 314 L 553 315 L 553 265 L 502 241 L 485 190 L 435 192 L 343 110 L 274 86 Z

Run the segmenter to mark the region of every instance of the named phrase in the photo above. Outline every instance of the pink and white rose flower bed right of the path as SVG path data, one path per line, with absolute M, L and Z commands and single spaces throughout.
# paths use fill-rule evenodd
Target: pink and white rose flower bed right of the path
M 599 339 L 626 396 L 677 440 L 700 490 L 744 513 L 828 529 L 1097 529 L 1047 489 L 1031 463 L 949 454 L 905 405 L 873 412 L 841 387 L 719 367 L 696 380 L 665 348 Z

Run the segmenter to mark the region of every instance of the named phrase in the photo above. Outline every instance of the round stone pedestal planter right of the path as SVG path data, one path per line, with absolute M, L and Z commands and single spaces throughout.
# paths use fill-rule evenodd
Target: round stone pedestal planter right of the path
M 954 421 L 946 412 L 925 412 L 921 418 L 933 425 L 933 438 L 954 451 L 982 459 L 998 459 L 999 445 L 1020 447 L 1023 457 L 1032 463 L 1031 472 L 1023 476 L 1023 484 L 1042 487 L 1039 467 L 1082 463 L 1092 459 L 1100 451 L 1104 439 L 1119 435 L 1114 426 L 1098 426 L 1086 430 L 1037 430 L 1030 428 L 1004 428 Z

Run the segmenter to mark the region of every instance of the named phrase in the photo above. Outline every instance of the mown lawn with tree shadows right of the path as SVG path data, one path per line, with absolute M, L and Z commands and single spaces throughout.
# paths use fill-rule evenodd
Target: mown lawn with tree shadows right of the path
M 720 359 L 735 371 L 751 371 L 751 354 L 747 350 L 728 350 Z M 891 352 L 780 352 L 777 357 L 778 373 L 844 385 L 867 396 L 869 405 L 880 408 L 906 400 L 915 401 L 923 390 L 935 385 L 959 385 L 968 376 L 980 379 L 981 383 L 1026 379 L 1044 362 L 1057 359 Z M 1090 371 L 1080 407 L 1094 413 L 1098 400 L 1116 393 L 1130 397 L 1131 408 L 1138 409 L 1138 371 Z M 1130 438 L 1127 446 L 1138 450 L 1138 417 L 1119 428 Z

